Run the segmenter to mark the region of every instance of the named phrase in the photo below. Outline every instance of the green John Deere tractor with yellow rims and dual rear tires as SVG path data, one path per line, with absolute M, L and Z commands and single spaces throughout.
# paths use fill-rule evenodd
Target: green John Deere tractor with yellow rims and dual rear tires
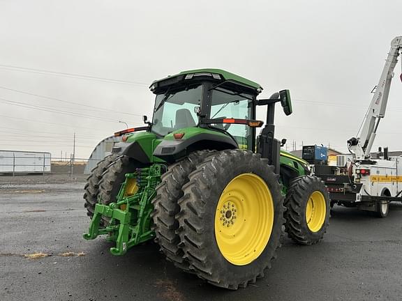
M 88 178 L 85 239 L 105 234 L 114 255 L 155 239 L 178 268 L 237 289 L 271 266 L 283 224 L 297 243 L 322 238 L 327 189 L 274 139 L 276 102 L 292 113 L 288 90 L 258 100 L 259 84 L 202 69 L 157 80 L 151 91 L 152 121 L 117 132 L 123 142 Z M 257 106 L 267 106 L 267 121 L 256 138 Z

